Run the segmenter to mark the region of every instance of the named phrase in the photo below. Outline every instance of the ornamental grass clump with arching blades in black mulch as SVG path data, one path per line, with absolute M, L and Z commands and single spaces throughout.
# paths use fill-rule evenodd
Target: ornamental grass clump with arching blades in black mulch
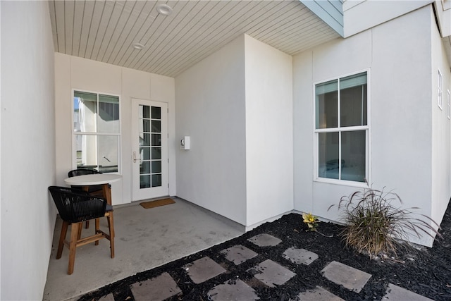
M 385 192 L 371 187 L 341 197 L 338 209 L 343 211 L 345 228 L 340 233 L 347 247 L 368 254 L 370 258 L 398 257 L 401 243 L 409 235 L 421 238 L 425 234 L 435 238 L 435 221 L 424 214 L 414 214 L 410 207 L 402 209 L 402 200 L 394 192 Z M 332 205 L 329 207 L 333 207 Z M 434 235 L 435 234 L 435 235 Z

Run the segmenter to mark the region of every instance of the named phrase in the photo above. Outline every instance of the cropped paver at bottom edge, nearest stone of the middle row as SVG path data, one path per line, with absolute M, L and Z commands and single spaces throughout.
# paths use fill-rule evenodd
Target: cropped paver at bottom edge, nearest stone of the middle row
M 221 285 L 212 288 L 208 293 L 209 300 L 236 300 L 250 301 L 259 300 L 255 290 L 240 279 L 228 280 Z

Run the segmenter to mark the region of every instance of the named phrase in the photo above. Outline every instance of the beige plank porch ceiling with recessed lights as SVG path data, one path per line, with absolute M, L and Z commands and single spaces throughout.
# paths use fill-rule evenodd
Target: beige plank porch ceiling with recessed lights
M 172 13 L 159 14 L 159 4 Z M 49 8 L 55 51 L 171 77 L 242 34 L 290 55 L 339 37 L 298 0 L 56 0 Z

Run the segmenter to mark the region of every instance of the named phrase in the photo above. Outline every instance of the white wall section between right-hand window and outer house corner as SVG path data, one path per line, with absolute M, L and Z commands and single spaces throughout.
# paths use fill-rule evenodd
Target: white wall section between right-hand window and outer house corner
M 394 189 L 405 207 L 419 207 L 427 216 L 433 200 L 431 99 L 436 89 L 431 85 L 431 27 L 432 7 L 426 6 L 374 28 L 373 82 L 381 88 L 373 85 L 372 91 L 373 99 L 381 101 L 373 102 L 371 112 L 372 146 L 385 144 L 371 157 L 373 183 Z M 393 75 L 402 80 L 393 80 Z M 376 123 L 377 116 L 385 121 Z M 427 236 L 414 241 L 432 243 Z

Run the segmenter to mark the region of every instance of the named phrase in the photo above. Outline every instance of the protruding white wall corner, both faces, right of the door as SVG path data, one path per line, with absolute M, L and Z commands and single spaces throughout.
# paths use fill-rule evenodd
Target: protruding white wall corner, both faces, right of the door
M 292 210 L 292 58 L 243 35 L 175 79 L 177 193 L 247 228 Z

